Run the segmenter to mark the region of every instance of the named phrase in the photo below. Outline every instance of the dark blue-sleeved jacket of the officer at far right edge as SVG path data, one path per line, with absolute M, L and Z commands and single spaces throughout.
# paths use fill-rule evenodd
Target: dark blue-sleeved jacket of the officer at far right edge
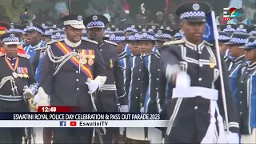
M 256 63 L 242 66 L 238 82 L 237 111 L 241 134 L 252 134 L 256 127 Z

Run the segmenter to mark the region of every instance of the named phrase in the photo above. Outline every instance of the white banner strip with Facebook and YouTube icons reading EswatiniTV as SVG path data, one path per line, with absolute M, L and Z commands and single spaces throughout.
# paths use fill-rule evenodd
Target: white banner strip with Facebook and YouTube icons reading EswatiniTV
M 2 120 L 0 127 L 167 127 L 167 120 L 122 121 L 14 121 Z

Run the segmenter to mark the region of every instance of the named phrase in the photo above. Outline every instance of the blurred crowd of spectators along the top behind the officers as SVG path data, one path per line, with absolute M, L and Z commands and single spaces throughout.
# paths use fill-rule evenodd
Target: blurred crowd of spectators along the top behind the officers
M 174 14 L 177 6 L 194 0 L 0 0 L 0 21 L 23 24 L 22 11 L 28 9 L 30 22 L 58 23 L 67 14 L 103 14 L 111 23 L 122 26 L 127 23 L 138 25 L 154 24 L 170 27 L 178 26 Z M 200 1 L 200 0 L 199 0 Z M 240 9 L 243 16 L 234 22 L 246 25 L 256 24 L 256 0 L 201 0 L 209 3 L 215 13 L 217 23 L 223 20 L 223 8 Z

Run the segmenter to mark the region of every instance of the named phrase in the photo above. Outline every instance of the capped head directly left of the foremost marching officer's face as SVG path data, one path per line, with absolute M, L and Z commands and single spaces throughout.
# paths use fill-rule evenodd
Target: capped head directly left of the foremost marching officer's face
M 156 38 L 155 46 L 157 49 L 161 49 L 164 42 L 169 42 L 171 40 L 172 31 L 165 29 L 155 29 L 154 34 Z

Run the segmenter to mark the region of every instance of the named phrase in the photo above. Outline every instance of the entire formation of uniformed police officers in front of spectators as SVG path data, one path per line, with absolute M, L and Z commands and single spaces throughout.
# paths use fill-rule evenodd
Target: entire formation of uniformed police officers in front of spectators
M 170 120 L 166 129 L 1 128 L 0 142 L 254 143 L 256 26 L 219 25 L 216 46 L 202 40 L 208 13 L 204 2 L 182 4 L 174 30 L 109 26 L 97 14 L 63 26 L 0 23 L 0 112 L 82 106 Z

